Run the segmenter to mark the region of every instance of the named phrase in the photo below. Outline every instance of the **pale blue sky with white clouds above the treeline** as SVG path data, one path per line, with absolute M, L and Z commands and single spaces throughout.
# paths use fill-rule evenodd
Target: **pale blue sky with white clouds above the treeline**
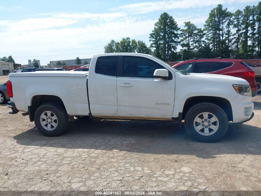
M 0 0 L 0 57 L 11 55 L 16 63 L 38 59 L 91 58 L 104 52 L 112 39 L 142 40 L 163 12 L 172 15 L 180 28 L 191 21 L 203 28 L 209 12 L 221 3 L 235 12 L 257 5 L 255 0 Z

